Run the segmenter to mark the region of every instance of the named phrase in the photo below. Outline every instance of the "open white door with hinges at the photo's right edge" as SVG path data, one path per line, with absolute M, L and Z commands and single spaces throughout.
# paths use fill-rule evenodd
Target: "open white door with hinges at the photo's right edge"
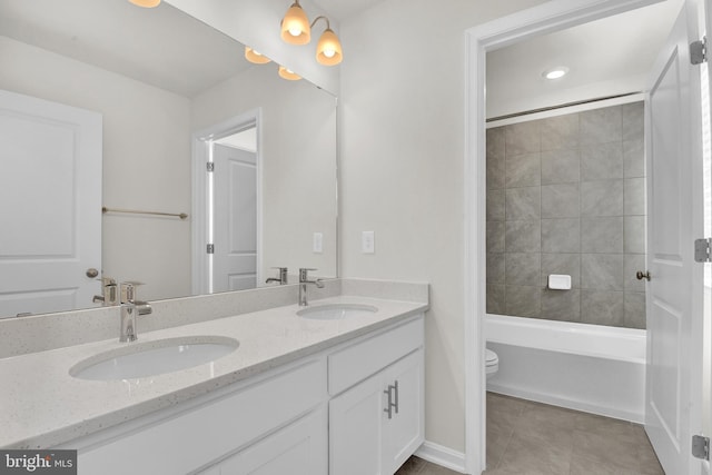
M 694 16 L 692 8 L 686 14 Z M 645 429 L 668 474 L 700 473 L 691 437 L 701 422 L 703 266 L 693 241 L 702 231 L 699 67 L 690 62 L 685 9 L 649 83 L 647 372 Z M 695 116 L 696 115 L 696 116 Z M 695 468 L 695 464 L 696 468 Z

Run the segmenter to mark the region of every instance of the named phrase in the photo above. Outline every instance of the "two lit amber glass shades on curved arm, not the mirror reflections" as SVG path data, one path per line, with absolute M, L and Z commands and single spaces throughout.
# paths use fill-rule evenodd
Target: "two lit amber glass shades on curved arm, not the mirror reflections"
M 332 30 L 329 19 L 320 16 L 309 24 L 309 19 L 299 4 L 299 0 L 291 3 L 281 20 L 281 39 L 289 44 L 307 44 L 312 39 L 312 28 L 319 20 L 326 21 L 326 30 L 319 37 L 316 46 L 316 60 L 319 65 L 336 66 L 343 60 L 342 43 Z

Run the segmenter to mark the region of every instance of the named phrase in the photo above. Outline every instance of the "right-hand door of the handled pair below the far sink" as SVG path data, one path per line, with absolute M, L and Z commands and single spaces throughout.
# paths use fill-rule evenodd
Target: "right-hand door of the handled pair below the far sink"
M 383 372 L 383 385 L 390 389 L 395 407 L 384 419 L 384 473 L 393 474 L 425 439 L 423 402 L 423 349 L 412 353 Z

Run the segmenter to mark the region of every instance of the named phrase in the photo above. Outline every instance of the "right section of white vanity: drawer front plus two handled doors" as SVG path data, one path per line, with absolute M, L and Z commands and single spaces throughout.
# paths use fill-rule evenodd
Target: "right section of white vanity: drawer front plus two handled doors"
M 329 473 L 390 475 L 424 441 L 423 320 L 329 356 L 332 390 L 349 366 L 380 368 L 329 402 Z

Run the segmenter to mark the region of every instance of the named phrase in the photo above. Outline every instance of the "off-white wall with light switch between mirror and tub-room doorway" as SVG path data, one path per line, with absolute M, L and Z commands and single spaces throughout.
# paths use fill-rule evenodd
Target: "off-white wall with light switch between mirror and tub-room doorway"
M 426 439 L 455 451 L 465 447 L 463 32 L 538 3 L 386 0 L 342 22 L 343 275 L 432 285 Z M 362 230 L 375 230 L 376 254 L 359 253 Z

